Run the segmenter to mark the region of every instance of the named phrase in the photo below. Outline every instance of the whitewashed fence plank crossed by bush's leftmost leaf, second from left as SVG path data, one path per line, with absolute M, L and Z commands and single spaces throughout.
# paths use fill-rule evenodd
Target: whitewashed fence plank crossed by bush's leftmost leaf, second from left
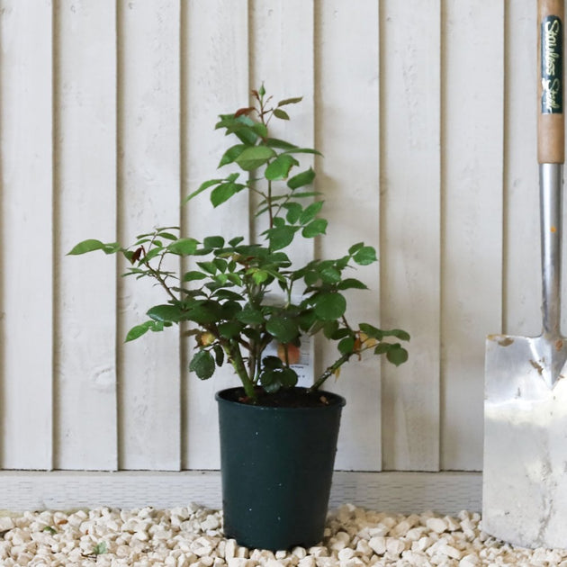
M 58 0 L 56 467 L 115 470 L 116 263 L 66 257 L 116 238 L 116 43 L 111 0 Z

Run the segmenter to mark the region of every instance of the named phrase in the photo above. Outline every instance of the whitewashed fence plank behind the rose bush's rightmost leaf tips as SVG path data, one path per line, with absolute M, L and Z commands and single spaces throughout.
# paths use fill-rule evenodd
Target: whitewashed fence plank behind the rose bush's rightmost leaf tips
M 383 326 L 411 334 L 383 366 L 383 466 L 439 466 L 439 0 L 385 0 L 382 41 Z

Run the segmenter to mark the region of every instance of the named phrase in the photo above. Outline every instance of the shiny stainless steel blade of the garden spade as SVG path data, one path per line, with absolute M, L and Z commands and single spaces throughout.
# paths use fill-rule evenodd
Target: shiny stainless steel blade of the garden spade
M 515 545 L 567 548 L 566 356 L 563 340 L 486 341 L 482 529 Z

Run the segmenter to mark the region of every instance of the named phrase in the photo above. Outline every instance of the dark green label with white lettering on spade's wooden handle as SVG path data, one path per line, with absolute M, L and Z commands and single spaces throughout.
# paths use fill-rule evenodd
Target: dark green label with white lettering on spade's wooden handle
M 546 16 L 541 29 L 542 114 L 563 114 L 563 23 Z

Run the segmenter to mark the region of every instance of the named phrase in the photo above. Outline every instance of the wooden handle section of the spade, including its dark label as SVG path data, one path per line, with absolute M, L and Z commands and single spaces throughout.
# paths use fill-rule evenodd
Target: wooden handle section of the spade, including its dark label
M 538 0 L 537 12 L 537 160 L 540 164 L 563 164 L 563 0 Z

